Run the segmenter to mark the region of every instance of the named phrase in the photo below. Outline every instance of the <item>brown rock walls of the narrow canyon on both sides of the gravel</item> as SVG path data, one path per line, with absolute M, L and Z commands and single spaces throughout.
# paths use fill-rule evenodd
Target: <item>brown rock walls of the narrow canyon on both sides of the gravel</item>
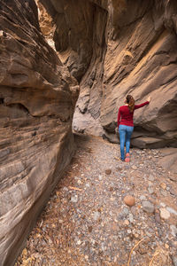
M 151 97 L 135 112 L 132 147 L 162 151 L 176 176 L 175 0 L 0 0 L 0 266 L 26 245 L 71 164 L 74 134 L 119 145 L 127 94 Z

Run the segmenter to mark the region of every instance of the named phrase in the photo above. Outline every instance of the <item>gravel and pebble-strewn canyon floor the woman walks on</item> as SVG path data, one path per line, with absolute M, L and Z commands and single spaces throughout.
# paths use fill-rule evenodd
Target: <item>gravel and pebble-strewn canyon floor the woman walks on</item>
M 75 137 L 77 152 L 16 265 L 177 265 L 177 176 L 158 150 Z M 124 198 L 135 197 L 128 207 Z

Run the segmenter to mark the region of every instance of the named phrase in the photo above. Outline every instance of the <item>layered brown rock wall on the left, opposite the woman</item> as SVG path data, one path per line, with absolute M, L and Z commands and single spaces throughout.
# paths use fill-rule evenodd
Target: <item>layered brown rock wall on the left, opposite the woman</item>
M 0 265 L 11 266 L 73 155 L 78 86 L 33 0 L 0 0 L 0 57 Z

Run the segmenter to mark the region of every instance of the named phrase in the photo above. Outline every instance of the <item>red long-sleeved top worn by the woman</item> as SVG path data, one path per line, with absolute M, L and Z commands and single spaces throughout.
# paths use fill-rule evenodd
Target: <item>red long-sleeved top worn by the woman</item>
M 150 102 L 145 102 L 141 105 L 135 106 L 135 109 L 141 108 L 142 106 L 146 106 L 149 105 Z M 129 127 L 134 127 L 134 111 L 132 113 L 130 113 L 129 111 L 129 107 L 128 106 L 120 106 L 119 107 L 119 113 L 118 113 L 118 128 L 119 125 L 125 125 L 125 126 L 129 126 Z M 121 119 L 120 119 L 121 118 Z

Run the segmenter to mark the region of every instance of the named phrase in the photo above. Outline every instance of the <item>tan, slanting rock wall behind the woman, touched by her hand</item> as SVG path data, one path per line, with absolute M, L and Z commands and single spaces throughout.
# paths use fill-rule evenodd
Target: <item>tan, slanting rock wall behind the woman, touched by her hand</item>
M 81 85 L 73 129 L 114 135 L 127 93 L 150 106 L 135 112 L 133 145 L 177 145 L 177 2 L 41 0 L 61 60 Z

